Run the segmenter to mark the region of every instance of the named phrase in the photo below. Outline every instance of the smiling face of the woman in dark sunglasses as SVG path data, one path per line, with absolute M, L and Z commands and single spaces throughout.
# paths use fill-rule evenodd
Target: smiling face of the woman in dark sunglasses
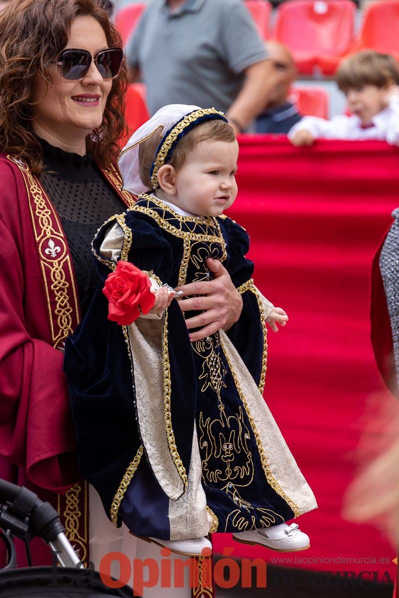
M 89 50 L 93 57 L 108 46 L 102 26 L 90 16 L 75 17 L 66 48 Z M 57 60 L 54 56 L 53 60 Z M 102 123 L 103 112 L 112 80 L 104 80 L 96 63 L 92 62 L 81 81 L 66 81 L 59 77 L 57 65 L 48 65 L 52 84 L 46 93 L 46 83 L 39 78 L 32 99 L 39 103 L 33 108 L 37 117 L 33 129 L 58 139 L 72 140 L 86 137 Z M 85 101 L 86 100 L 86 101 Z

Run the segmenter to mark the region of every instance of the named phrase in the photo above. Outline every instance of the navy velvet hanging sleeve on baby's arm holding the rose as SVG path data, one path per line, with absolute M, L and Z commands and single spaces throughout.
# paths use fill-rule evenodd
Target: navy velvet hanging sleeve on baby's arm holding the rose
M 144 431 L 149 425 L 148 417 L 145 409 L 139 410 L 141 404 L 136 401 L 141 380 L 133 364 L 141 355 L 132 354 L 134 331 L 130 330 L 136 324 L 121 327 L 108 320 L 108 301 L 102 289 L 112 264 L 115 266 L 120 259 L 141 270 L 152 270 L 160 282 L 168 282 L 173 267 L 172 250 L 156 222 L 132 210 L 115 216 L 100 228 L 93 242 L 93 253 L 100 282 L 86 316 L 65 343 L 64 370 L 77 429 L 81 475 L 99 492 L 108 517 L 112 520 L 112 512 L 117 513 L 114 523 L 119 525 L 117 507 L 126 490 L 126 480 L 132 480 L 143 444 L 150 463 L 153 447 L 151 441 L 146 445 Z M 176 312 L 184 327 L 176 301 L 172 301 L 169 311 L 169 319 Z M 162 335 L 162 325 L 159 329 Z M 162 396 L 159 399 L 163 401 Z M 175 408 L 184 413 L 184 405 L 172 404 L 172 416 Z M 144 420 L 140 419 L 143 411 Z

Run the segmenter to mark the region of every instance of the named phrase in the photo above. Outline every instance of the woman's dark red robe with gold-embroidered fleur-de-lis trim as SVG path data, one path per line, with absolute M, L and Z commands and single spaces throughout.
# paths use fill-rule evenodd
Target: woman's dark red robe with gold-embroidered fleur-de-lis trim
M 118 172 L 103 174 L 132 205 Z M 84 560 L 87 487 L 58 350 L 79 321 L 71 254 L 54 206 L 23 161 L 0 155 L 0 181 L 0 477 L 58 508 Z M 47 547 L 33 542 L 33 564 L 48 563 Z M 21 553 L 18 560 L 25 564 Z

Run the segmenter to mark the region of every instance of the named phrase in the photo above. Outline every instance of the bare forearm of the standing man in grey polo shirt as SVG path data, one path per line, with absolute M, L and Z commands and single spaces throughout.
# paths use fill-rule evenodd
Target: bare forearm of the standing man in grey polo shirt
M 239 129 L 245 129 L 264 109 L 279 77 L 267 59 L 255 62 L 244 72 L 245 81 L 242 90 L 226 114 L 236 133 L 240 132 Z

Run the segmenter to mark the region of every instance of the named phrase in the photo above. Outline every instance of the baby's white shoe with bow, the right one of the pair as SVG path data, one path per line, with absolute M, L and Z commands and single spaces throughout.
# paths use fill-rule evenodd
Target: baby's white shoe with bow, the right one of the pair
M 291 553 L 310 548 L 310 539 L 306 533 L 299 529 L 297 523 L 279 523 L 262 529 L 254 529 L 251 532 L 233 533 L 236 542 L 242 544 L 259 544 L 270 550 L 277 550 L 281 553 Z

